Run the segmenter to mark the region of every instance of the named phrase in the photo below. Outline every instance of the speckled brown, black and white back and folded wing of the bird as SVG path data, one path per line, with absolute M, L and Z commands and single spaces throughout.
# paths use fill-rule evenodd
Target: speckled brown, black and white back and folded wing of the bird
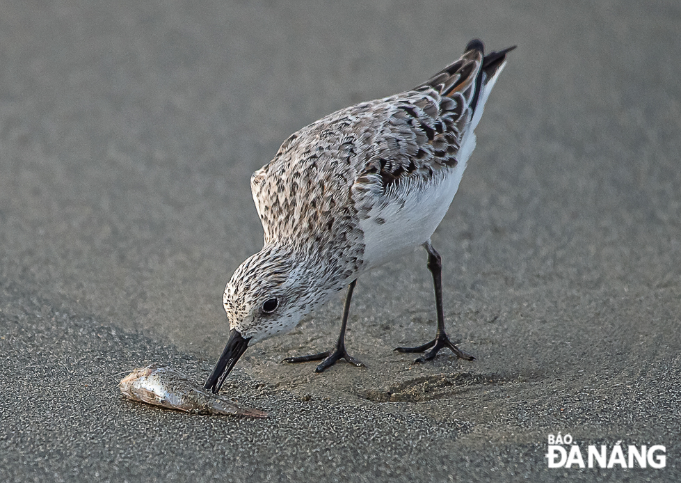
M 360 242 L 353 227 L 364 214 L 353 209 L 353 196 L 381 196 L 392 184 L 456 166 L 484 60 L 481 42 L 472 41 L 424 84 L 342 109 L 290 136 L 251 179 L 265 244 L 300 242 L 307 233 L 317 234 L 309 249 L 327 237 Z

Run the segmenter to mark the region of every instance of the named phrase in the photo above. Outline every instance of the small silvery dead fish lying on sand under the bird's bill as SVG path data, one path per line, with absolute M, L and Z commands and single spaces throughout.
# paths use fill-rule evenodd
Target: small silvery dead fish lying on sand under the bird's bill
M 231 399 L 209 393 L 182 372 L 161 364 L 135 369 L 118 383 L 120 392 L 133 401 L 178 409 L 192 414 L 232 414 L 266 418 L 258 409 L 240 408 Z

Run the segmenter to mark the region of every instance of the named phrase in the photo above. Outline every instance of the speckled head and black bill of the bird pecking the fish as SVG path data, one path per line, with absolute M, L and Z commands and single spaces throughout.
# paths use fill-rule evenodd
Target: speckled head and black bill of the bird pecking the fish
M 266 246 L 239 266 L 223 296 L 230 338 L 206 389 L 220 390 L 249 345 L 291 331 L 304 315 L 328 299 L 333 289 L 323 286 L 319 269 L 274 246 Z

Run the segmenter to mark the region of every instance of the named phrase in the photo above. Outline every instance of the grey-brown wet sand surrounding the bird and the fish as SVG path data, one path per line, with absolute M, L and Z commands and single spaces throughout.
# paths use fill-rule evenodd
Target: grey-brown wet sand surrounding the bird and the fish
M 681 8 L 626 1 L 0 6 L 0 474 L 25 481 L 681 478 Z M 203 380 L 249 178 L 292 132 L 419 84 L 470 38 L 517 44 L 424 251 L 248 349 L 223 391 L 267 420 L 125 400 L 150 362 Z M 666 467 L 547 467 L 549 434 L 665 445 Z

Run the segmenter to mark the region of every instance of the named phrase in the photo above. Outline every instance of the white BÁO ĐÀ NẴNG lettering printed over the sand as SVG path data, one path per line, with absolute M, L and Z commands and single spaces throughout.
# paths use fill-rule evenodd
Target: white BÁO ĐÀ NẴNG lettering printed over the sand
M 572 436 L 549 435 L 546 453 L 549 468 L 664 468 L 667 464 L 663 445 L 629 445 L 622 441 L 613 446 L 588 445 L 586 449 L 572 444 Z

